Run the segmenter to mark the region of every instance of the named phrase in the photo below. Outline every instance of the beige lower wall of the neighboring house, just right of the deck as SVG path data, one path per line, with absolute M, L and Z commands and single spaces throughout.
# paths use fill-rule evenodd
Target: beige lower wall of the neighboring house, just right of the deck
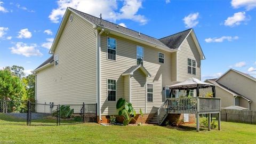
M 209 81 L 206 81 L 206 83 L 210 83 Z M 211 89 L 208 92 L 212 92 Z M 229 106 L 234 106 L 234 95 L 221 89 L 219 86 L 215 86 L 215 91 L 216 91 L 216 98 L 221 98 L 221 107 L 229 107 Z

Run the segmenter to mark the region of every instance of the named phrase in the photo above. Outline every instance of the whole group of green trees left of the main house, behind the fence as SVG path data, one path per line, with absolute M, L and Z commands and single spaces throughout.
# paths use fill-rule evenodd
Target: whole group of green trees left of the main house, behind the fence
M 0 100 L 35 102 L 35 75 L 26 76 L 21 66 L 0 70 Z

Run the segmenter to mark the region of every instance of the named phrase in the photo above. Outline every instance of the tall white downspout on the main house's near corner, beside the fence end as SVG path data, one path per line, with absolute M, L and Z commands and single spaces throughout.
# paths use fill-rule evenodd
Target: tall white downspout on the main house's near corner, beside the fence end
M 98 90 L 97 90 L 97 93 L 98 93 L 98 108 L 99 108 L 99 119 L 102 121 L 102 119 L 101 119 L 101 97 L 100 97 L 100 80 L 101 80 L 101 74 L 100 74 L 100 65 L 101 65 L 101 63 L 100 63 L 100 51 L 101 51 L 101 43 L 100 43 L 100 35 L 103 33 L 103 31 L 104 31 L 104 29 L 102 28 L 101 29 L 101 31 L 100 31 L 100 33 L 99 33 L 99 35 L 98 35 L 98 50 L 97 50 L 97 81 L 98 81 L 98 85 L 97 85 L 97 87 L 98 87 Z

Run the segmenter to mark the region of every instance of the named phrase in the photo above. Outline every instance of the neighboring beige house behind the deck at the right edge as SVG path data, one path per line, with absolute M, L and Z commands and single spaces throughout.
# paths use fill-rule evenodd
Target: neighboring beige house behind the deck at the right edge
M 216 79 L 206 79 L 214 84 L 221 107 L 240 106 L 256 110 L 256 78 L 235 69 L 229 69 Z

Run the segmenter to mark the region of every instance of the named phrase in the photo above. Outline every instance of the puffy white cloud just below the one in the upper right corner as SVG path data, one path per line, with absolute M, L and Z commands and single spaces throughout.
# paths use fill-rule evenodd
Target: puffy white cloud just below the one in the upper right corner
M 241 24 L 241 22 L 247 21 L 247 20 L 248 19 L 246 18 L 245 12 L 237 12 L 237 13 L 234 13 L 232 17 L 228 17 L 225 20 L 224 25 L 230 26 L 230 27 L 238 26 Z

